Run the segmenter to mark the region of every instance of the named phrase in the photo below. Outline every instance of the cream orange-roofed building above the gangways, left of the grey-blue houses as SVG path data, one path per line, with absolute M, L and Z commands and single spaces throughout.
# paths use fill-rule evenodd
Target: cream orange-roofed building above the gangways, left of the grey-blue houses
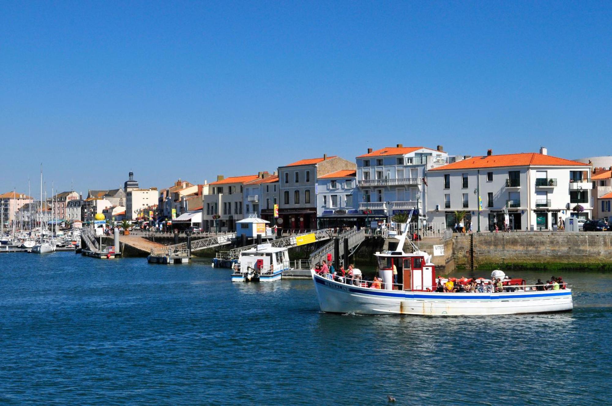
M 204 194 L 202 222 L 204 231 L 236 231 L 236 221 L 244 218 L 244 184 L 258 179 L 258 175 L 217 176 L 216 182 L 209 183 Z

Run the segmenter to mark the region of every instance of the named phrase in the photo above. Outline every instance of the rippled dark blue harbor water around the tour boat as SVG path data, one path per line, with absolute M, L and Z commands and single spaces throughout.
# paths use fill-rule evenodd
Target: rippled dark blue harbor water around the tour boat
M 319 312 L 312 281 L 230 273 L 0 254 L 0 404 L 609 402 L 612 275 L 562 273 L 569 313 L 376 317 Z

